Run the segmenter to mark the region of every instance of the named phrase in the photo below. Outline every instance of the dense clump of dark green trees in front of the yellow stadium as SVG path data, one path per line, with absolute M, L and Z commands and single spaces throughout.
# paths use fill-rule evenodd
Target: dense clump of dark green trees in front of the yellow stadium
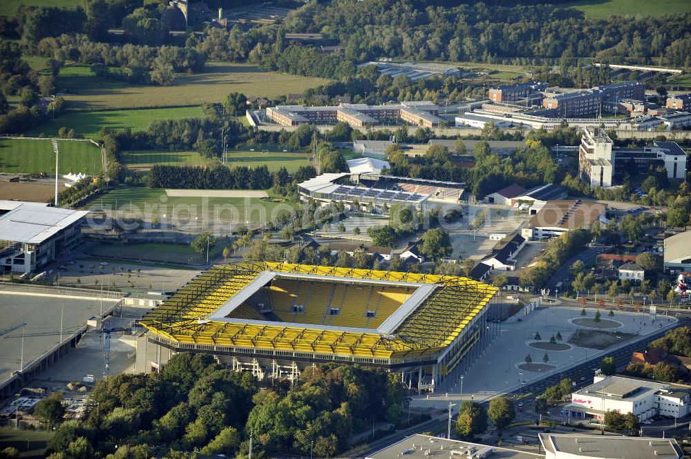
M 211 355 L 180 353 L 161 373 L 100 380 L 89 402 L 82 422 L 60 424 L 52 405 L 41 407 L 46 422 L 57 424 L 48 458 L 145 459 L 153 452 L 147 445 L 169 448 L 167 458 L 191 449 L 246 456 L 251 432 L 256 458 L 309 454 L 310 447 L 330 458 L 372 421 L 399 422 L 409 398 L 400 378 L 379 369 L 326 364 L 306 369 L 294 384 L 261 387 L 251 373 L 225 369 Z

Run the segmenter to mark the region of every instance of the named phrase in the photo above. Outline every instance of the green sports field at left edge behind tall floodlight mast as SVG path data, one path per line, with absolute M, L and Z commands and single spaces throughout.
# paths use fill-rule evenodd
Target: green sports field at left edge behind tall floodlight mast
M 103 170 L 101 149 L 90 141 L 58 140 L 59 175 Z M 55 174 L 55 153 L 50 139 L 0 139 L 0 172 Z

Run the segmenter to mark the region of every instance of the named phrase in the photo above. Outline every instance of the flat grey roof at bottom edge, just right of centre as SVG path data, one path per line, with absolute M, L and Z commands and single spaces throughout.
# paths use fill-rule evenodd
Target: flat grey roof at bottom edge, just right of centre
M 511 458 L 511 459 L 544 459 L 545 456 L 536 453 L 527 453 L 517 449 L 494 447 L 481 445 L 480 443 L 461 442 L 458 440 L 447 440 L 446 438 L 431 437 L 422 434 L 415 434 L 410 437 L 380 449 L 375 453 L 370 453 L 366 459 L 430 459 L 448 458 L 451 451 L 464 451 L 466 448 L 473 448 L 475 452 L 486 450 L 488 458 Z M 425 453 L 429 451 L 428 455 Z M 466 455 L 453 456 L 466 458 Z

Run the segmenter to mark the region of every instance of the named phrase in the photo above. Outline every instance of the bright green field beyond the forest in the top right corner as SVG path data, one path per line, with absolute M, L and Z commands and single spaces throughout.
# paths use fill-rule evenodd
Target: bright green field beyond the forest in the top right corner
M 663 16 L 691 12 L 688 0 L 667 0 L 663 3 L 647 0 L 577 0 L 561 3 L 563 8 L 576 8 L 587 17 L 604 19 L 610 16 Z

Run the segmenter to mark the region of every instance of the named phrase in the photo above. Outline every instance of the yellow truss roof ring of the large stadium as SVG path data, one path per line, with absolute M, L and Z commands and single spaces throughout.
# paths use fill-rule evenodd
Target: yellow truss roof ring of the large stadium
M 256 280 L 307 275 L 344 282 L 428 285 L 406 301 L 377 329 L 319 326 L 225 317 L 232 298 Z M 267 277 L 268 276 L 268 277 Z M 330 279 L 331 278 L 331 279 Z M 263 284 L 263 282 L 258 282 Z M 364 282 L 363 282 L 364 283 Z M 406 359 L 437 354 L 451 344 L 498 291 L 466 277 L 334 268 L 286 263 L 214 266 L 180 289 L 141 320 L 149 331 L 184 344 L 272 349 L 364 358 Z M 409 300 L 413 300 L 415 294 Z M 223 318 L 223 320 L 221 320 Z

